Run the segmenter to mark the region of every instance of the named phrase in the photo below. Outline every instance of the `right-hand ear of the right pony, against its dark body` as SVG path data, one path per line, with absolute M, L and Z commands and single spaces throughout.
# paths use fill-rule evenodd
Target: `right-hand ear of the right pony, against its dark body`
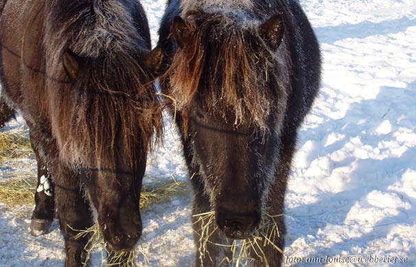
M 259 33 L 273 51 L 279 47 L 284 34 L 284 22 L 280 14 L 273 15 L 260 25 Z

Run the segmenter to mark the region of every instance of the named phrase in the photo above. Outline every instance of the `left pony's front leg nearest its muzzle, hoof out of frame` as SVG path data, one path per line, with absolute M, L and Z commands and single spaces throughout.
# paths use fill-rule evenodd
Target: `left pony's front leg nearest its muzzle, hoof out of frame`
M 63 169 L 63 170 L 62 170 Z M 80 177 L 65 167 L 54 176 L 56 211 L 65 240 L 65 266 L 81 266 L 86 260 L 86 244 L 90 235 L 77 238 L 80 231 L 93 226 L 89 201 L 80 188 Z

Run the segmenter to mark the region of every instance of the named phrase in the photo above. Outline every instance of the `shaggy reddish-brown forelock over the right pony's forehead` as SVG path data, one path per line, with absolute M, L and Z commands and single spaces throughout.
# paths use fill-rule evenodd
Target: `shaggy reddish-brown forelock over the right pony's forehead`
M 189 43 L 178 48 L 167 77 L 176 108 L 185 114 L 194 100 L 208 113 L 257 130 L 268 130 L 270 115 L 286 103 L 290 58 L 286 45 L 271 51 L 256 19 L 239 12 L 183 14 L 191 29 Z

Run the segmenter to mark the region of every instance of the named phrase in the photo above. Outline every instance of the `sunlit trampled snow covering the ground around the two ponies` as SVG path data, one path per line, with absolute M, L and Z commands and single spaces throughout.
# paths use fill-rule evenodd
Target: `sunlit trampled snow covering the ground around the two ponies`
M 142 3 L 156 43 L 165 0 Z M 416 266 L 415 0 L 301 5 L 321 42 L 324 71 L 321 94 L 300 131 L 286 197 L 286 266 L 325 266 L 290 262 L 353 255 L 407 262 L 326 265 Z M 166 126 L 165 148 L 152 156 L 147 174 L 187 180 L 168 119 Z M 24 130 L 23 122 L 6 130 Z M 32 159 L 0 166 L 0 179 L 27 170 L 34 170 Z M 143 211 L 137 251 L 147 258 L 139 255 L 139 265 L 192 266 L 189 203 L 189 197 L 178 197 Z M 0 266 L 62 266 L 57 225 L 48 235 L 32 237 L 30 209 L 16 208 L 22 216 L 0 204 Z M 93 266 L 100 263 L 97 251 Z

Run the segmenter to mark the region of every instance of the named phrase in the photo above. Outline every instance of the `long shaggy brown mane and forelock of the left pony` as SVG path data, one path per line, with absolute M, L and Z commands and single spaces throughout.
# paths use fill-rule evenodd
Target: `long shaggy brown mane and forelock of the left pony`
M 83 61 L 75 83 L 46 84 L 60 158 L 72 165 L 111 167 L 122 157 L 132 166 L 137 151 L 152 146 L 154 133 L 161 137 L 161 106 L 141 60 L 150 44 L 139 34 L 132 8 L 121 2 L 47 5 L 47 73 L 68 80 L 62 65 L 68 48 Z

